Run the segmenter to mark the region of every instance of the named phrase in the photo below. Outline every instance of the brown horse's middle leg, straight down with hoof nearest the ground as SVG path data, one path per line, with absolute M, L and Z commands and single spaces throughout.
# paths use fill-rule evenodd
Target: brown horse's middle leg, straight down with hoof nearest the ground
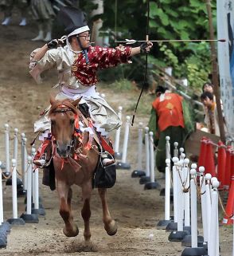
M 91 238 L 91 232 L 89 227 L 89 219 L 91 216 L 90 211 L 90 198 L 92 194 L 92 183 L 86 183 L 82 186 L 82 199 L 84 201 L 83 208 L 81 210 L 82 218 L 84 219 L 84 240 L 89 241 Z

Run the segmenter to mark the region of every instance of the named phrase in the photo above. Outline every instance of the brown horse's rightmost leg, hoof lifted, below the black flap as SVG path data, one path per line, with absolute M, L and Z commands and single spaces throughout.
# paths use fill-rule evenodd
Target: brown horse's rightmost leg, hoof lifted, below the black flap
M 107 207 L 107 189 L 99 188 L 99 196 L 103 206 L 103 223 L 107 234 L 114 235 L 117 232 L 117 224 L 114 219 L 111 219 L 110 212 Z

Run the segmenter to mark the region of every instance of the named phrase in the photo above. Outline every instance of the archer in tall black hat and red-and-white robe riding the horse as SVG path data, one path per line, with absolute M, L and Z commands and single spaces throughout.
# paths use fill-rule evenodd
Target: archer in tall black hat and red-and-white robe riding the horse
M 152 43 L 147 41 L 138 47 L 119 46 L 114 48 L 103 48 L 90 45 L 90 29 L 84 19 L 84 13 L 74 7 L 64 7 L 60 10 L 58 17 L 63 19 L 67 34 L 66 45 L 61 46 L 61 41 L 53 39 L 40 49 L 35 49 L 30 58 L 30 74 L 40 83 L 40 74 L 46 69 L 57 66 L 59 87 L 57 100 L 66 98 L 76 100 L 82 96 L 80 104 L 87 104 L 89 114 L 94 122 L 96 131 L 104 137 L 108 143 L 109 133 L 119 128 L 121 120 L 116 112 L 107 104 L 103 97 L 96 93 L 98 82 L 96 72 L 98 69 L 107 69 L 120 63 L 131 63 L 131 56 L 138 53 L 148 53 Z M 44 132 L 44 140 L 48 139 L 50 120 L 46 115 L 34 124 L 34 132 Z M 45 132 L 47 131 L 47 132 Z M 41 164 L 45 143 L 41 145 L 34 164 Z M 113 163 L 107 157 L 103 157 L 103 164 Z

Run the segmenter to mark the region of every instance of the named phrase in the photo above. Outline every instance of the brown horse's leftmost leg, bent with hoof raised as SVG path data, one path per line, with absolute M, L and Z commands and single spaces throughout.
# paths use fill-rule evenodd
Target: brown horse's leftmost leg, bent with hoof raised
M 60 215 L 64 219 L 64 234 L 68 237 L 74 237 L 79 234 L 78 226 L 73 223 L 71 202 L 72 189 L 66 183 L 57 181 L 57 192 L 60 198 Z

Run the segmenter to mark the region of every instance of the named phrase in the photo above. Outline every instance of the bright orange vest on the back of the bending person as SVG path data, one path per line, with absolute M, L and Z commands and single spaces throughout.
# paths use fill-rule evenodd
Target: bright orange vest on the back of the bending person
M 169 126 L 181 126 L 185 128 L 182 108 L 183 98 L 176 93 L 165 93 L 164 100 L 160 101 L 160 99 L 161 96 L 157 97 L 152 104 L 158 116 L 158 128 L 160 132 Z

